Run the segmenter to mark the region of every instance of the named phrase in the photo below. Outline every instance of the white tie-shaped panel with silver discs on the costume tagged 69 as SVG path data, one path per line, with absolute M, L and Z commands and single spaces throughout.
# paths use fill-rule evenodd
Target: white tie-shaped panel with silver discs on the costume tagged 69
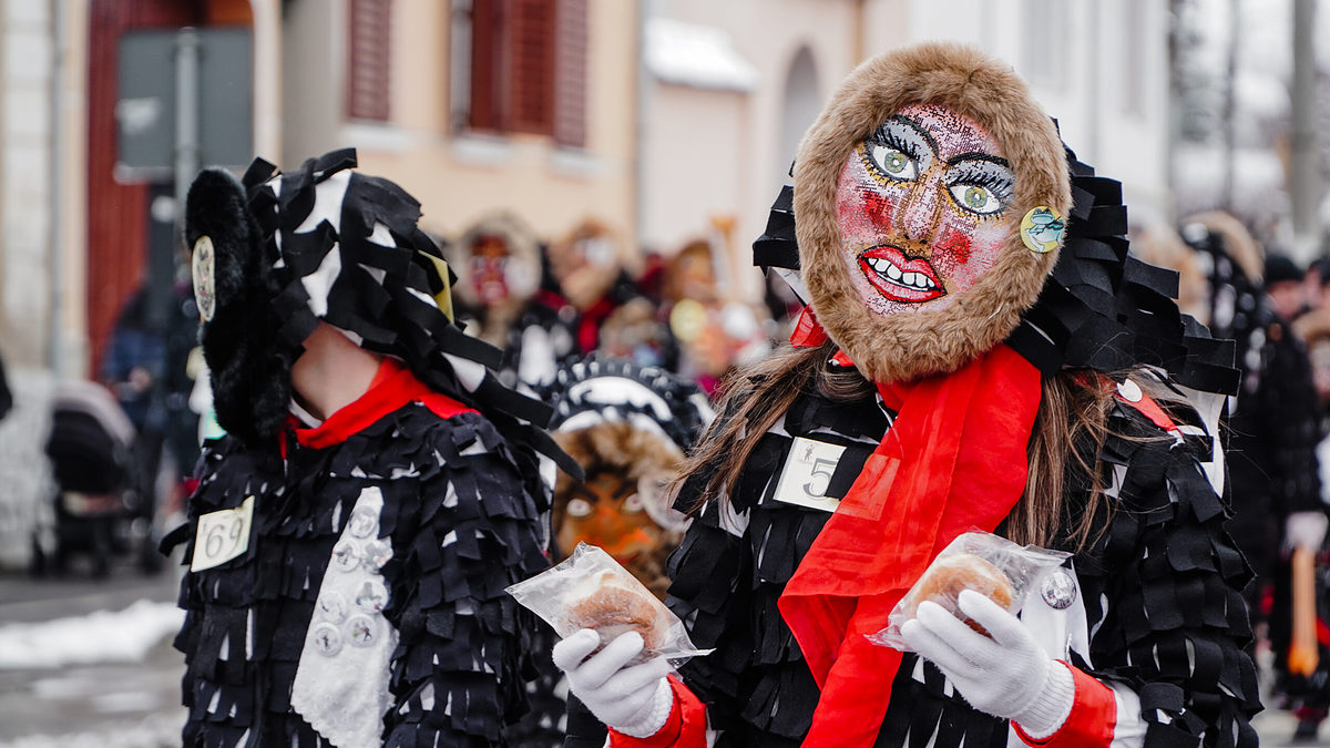
M 379 539 L 383 492 L 360 491 L 319 586 L 291 687 L 291 708 L 332 745 L 378 745 L 392 707 L 388 667 L 398 631 L 383 618 L 379 572 L 392 546 Z

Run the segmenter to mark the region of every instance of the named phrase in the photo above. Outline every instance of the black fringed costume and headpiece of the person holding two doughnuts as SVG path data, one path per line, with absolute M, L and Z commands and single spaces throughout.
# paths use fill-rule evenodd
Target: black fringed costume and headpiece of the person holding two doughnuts
M 1075 198 L 1068 238 L 1008 345 L 1045 375 L 1146 365 L 1202 393 L 1232 390 L 1232 343 L 1210 339 L 1180 315 L 1169 298 L 1176 277 L 1128 257 L 1120 185 L 1068 157 Z M 786 192 L 773 208 L 767 233 L 754 245 L 759 265 L 791 266 L 793 260 L 797 268 L 790 205 Z M 1150 370 L 1132 377 L 1153 381 L 1156 390 L 1172 387 Z M 1129 393 L 1132 381 L 1125 382 L 1120 391 Z M 1138 720 L 1130 725 L 1144 729 L 1137 744 L 1253 747 L 1248 720 L 1260 704 L 1256 671 L 1242 651 L 1250 627 L 1238 592 L 1250 572 L 1222 527 L 1230 512 L 1220 495 L 1213 421 L 1188 406 L 1182 390 L 1174 397 L 1166 417 L 1125 395 L 1109 413 L 1112 435 L 1097 458 L 1112 516 L 1093 547 L 1069 564 L 1079 576 L 1089 647 L 1077 651 L 1072 642 L 1069 651 L 1051 654 L 1138 696 L 1136 715 L 1120 715 L 1120 721 Z M 1202 395 L 1198 402 L 1206 399 L 1218 407 L 1222 398 Z M 777 610 L 786 582 L 831 516 L 773 499 L 791 438 L 814 435 L 847 447 L 826 491 L 841 496 L 891 419 L 871 391 L 849 402 L 806 393 L 751 454 L 728 491 L 729 506 L 706 502 L 672 558 L 670 607 L 689 623 L 696 646 L 716 648 L 680 669 L 706 703 L 710 725 L 722 731 L 716 745 L 799 745 L 819 699 Z M 1169 422 L 1174 429 L 1165 430 Z M 1093 461 L 1091 445 L 1076 446 Z M 1067 522 L 1092 490 L 1081 471 L 1067 472 L 1063 542 Z M 696 506 L 708 478 L 692 475 L 677 506 Z M 907 654 L 875 744 L 1001 747 L 1008 725 L 972 709 L 931 663 Z

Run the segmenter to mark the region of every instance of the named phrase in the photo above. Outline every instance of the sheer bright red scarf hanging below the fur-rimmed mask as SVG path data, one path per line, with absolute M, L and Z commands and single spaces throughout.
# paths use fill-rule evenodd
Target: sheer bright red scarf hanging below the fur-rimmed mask
M 864 635 L 952 539 L 992 531 L 1025 490 L 1039 370 L 1005 345 L 954 374 L 878 385 L 896 410 L 781 595 L 781 615 L 822 689 L 803 745 L 868 747 L 900 652 Z

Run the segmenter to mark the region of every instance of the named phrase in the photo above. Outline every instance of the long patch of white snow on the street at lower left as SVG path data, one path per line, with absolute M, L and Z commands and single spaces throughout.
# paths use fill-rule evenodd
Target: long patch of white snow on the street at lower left
M 0 626 L 0 669 L 142 661 L 184 622 L 174 603 L 138 600 L 116 612 Z

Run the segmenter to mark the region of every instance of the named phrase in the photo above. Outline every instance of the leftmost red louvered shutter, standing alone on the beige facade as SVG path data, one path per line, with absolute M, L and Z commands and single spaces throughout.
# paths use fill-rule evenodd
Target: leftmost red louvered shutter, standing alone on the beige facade
M 392 0 L 350 0 L 346 114 L 387 121 L 391 101 Z

